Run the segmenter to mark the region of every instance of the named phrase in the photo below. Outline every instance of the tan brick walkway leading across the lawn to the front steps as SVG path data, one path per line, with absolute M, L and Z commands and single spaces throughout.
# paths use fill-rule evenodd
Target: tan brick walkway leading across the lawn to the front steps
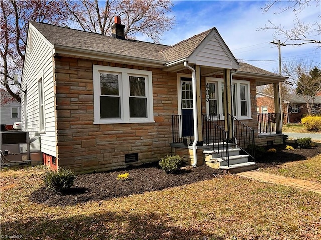
M 308 191 L 321 194 L 321 183 L 318 183 L 318 182 L 310 182 L 310 181 L 301 180 L 293 177 L 283 177 L 283 176 L 278 176 L 275 174 L 260 172 L 256 170 L 241 172 L 241 173 L 237 173 L 236 175 L 239 175 L 241 177 L 251 178 L 262 182 L 269 182 L 269 183 L 281 184 L 289 187 L 296 187 L 299 189 L 308 190 Z

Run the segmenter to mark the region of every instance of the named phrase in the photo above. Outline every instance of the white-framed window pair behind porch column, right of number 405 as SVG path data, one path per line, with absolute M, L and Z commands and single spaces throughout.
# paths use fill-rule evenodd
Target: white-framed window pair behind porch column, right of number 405
M 220 90 L 220 91 L 218 91 Z M 251 118 L 250 85 L 249 81 L 232 80 L 232 107 L 233 116 L 238 119 Z M 225 92 L 222 78 L 206 78 L 206 111 L 207 114 L 216 117 L 224 115 Z

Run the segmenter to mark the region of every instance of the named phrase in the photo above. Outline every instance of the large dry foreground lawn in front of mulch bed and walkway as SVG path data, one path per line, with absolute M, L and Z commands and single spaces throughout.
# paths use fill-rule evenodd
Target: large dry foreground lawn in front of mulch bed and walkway
M 2 172 L 1 234 L 22 239 L 320 239 L 316 193 L 225 175 L 76 206 L 31 203 L 42 169 Z

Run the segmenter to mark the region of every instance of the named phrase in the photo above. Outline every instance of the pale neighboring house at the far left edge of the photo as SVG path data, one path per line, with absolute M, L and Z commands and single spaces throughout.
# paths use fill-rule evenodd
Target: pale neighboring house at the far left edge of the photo
M 0 89 L 0 96 L 0 123 L 2 125 L 12 126 L 14 122 L 20 122 L 20 102 L 17 102 L 17 100 L 4 89 Z

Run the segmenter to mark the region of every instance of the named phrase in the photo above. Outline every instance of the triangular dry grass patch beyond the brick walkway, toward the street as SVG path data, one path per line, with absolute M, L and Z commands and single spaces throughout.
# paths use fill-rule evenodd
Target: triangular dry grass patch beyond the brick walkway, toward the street
M 321 182 L 321 154 L 303 161 L 293 161 L 262 168 L 262 171 L 285 177 Z

